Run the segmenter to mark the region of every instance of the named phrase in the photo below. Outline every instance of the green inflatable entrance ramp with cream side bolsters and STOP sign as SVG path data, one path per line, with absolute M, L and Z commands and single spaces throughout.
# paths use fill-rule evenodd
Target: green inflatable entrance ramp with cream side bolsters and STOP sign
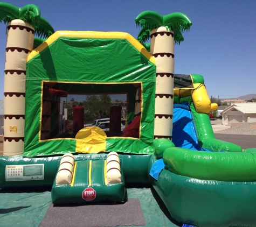
M 75 161 L 65 154 L 52 187 L 52 203 L 123 202 L 126 193 L 119 155 Z

